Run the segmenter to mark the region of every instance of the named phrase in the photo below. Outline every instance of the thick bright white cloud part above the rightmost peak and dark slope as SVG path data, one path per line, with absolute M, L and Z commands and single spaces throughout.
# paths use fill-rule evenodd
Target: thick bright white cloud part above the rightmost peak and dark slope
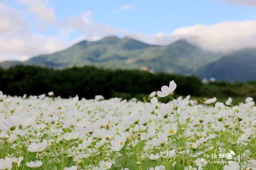
M 256 47 L 256 21 L 227 21 L 212 25 L 197 24 L 179 28 L 172 35 L 186 38 L 210 50 L 228 51 Z

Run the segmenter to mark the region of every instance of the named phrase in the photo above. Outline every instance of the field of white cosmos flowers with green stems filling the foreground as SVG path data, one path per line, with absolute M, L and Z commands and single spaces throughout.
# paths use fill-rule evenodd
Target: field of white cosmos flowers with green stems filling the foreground
M 1 92 L 0 170 L 256 170 L 253 99 L 198 104 L 176 87 L 145 102 Z

